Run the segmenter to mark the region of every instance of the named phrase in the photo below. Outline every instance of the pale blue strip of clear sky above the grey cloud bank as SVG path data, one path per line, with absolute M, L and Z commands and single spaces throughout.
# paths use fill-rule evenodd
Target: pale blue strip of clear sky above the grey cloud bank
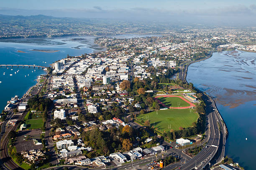
M 256 4 L 255 0 L 2 0 L 0 6 L 28 10 L 94 9 L 95 7 L 100 7 L 103 10 L 118 8 L 128 10 L 134 7 L 196 10 L 252 4 Z

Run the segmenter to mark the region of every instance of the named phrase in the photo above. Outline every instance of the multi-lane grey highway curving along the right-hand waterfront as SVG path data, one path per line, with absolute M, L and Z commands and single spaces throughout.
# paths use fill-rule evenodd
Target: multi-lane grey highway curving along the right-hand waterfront
M 196 61 L 187 62 L 181 65 L 179 78 L 186 81 L 187 67 L 189 64 L 201 60 L 205 60 L 212 55 L 213 50 L 210 52 L 210 55 Z M 184 67 L 185 65 L 185 67 Z M 217 110 L 214 100 L 209 95 L 203 94 L 203 99 L 206 106 L 206 120 L 207 120 L 207 138 L 209 139 L 205 147 L 198 153 L 194 158 L 189 160 L 186 164 L 180 166 L 180 169 L 183 170 L 192 170 L 192 169 L 203 169 L 208 163 L 215 164 L 219 163 L 224 158 L 225 152 L 225 139 L 226 139 L 226 128 L 223 119 L 220 116 L 220 113 Z M 217 154 L 216 154 L 217 153 Z M 170 170 L 173 167 L 167 167 L 166 170 Z

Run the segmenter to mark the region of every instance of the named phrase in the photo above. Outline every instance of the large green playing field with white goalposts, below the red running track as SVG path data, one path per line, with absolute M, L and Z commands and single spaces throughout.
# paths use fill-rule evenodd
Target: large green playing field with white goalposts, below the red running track
M 171 129 L 179 130 L 179 127 L 191 127 L 192 123 L 197 121 L 199 115 L 194 110 L 191 110 L 190 113 L 189 109 L 166 109 L 158 110 L 158 114 L 154 111 L 143 115 L 137 115 L 136 120 L 139 122 L 142 122 L 143 120 L 145 122 L 146 117 L 150 121 L 151 127 L 155 122 L 155 128 L 157 128 L 159 132 L 164 132 L 164 130 L 167 132 Z M 168 128 L 168 125 L 171 125 L 170 129 Z

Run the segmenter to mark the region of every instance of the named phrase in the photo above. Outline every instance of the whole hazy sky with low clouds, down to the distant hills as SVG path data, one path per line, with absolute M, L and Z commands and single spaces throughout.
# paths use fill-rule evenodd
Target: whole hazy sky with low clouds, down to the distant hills
M 256 0 L 2 0 L 0 14 L 253 25 Z

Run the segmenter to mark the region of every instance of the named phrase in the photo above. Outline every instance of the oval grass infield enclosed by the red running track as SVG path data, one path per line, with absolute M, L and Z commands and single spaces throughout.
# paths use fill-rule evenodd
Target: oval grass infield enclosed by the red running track
M 178 107 L 178 102 L 179 107 L 189 106 L 187 102 L 180 99 L 179 97 L 158 97 L 157 99 L 160 100 L 167 107 Z

